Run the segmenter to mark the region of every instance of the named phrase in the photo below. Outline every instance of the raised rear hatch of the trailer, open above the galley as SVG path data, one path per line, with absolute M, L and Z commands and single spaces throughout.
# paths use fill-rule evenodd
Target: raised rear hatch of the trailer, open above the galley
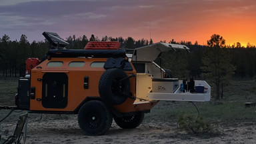
M 184 49 L 189 51 L 189 47 L 173 43 L 155 43 L 145 47 L 139 47 L 133 52 L 132 61 L 155 61 L 160 53 L 169 50 Z

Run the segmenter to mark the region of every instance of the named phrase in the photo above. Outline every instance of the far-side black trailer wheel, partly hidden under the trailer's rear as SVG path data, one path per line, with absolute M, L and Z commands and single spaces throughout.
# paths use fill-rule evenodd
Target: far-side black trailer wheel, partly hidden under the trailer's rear
M 141 125 L 144 118 L 144 113 L 137 113 L 131 116 L 116 117 L 114 116 L 115 123 L 123 129 L 134 129 Z

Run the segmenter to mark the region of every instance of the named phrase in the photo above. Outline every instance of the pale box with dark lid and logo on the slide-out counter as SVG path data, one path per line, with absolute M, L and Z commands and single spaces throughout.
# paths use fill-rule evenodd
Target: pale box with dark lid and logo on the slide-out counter
M 174 93 L 179 88 L 179 79 L 152 79 L 153 93 Z

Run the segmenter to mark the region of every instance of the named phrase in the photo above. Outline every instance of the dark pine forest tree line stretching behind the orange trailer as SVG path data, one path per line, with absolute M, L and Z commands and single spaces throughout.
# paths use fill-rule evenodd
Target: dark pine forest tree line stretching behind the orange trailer
M 89 41 L 119 41 L 121 48 L 130 51 L 145 45 L 153 44 L 153 40 L 132 37 L 76 37 L 69 36 L 65 39 L 69 45 L 67 49 L 84 49 Z M 198 45 L 197 41 L 162 41 L 165 43 L 177 43 L 187 45 L 191 53 L 185 51 L 167 51 L 163 53 L 156 63 L 165 69 L 172 71 L 173 77 L 179 79 L 209 79 L 214 85 L 215 99 L 222 99 L 223 93 L 229 85 L 231 78 L 255 77 L 256 49 L 255 45 L 241 46 L 237 42 L 234 45 L 225 45 L 225 39 L 220 35 L 212 35 L 207 45 Z M 49 42 L 33 41 L 29 43 L 26 35 L 21 35 L 19 41 L 11 41 L 8 35 L 0 38 L 0 77 L 19 77 L 25 73 L 25 60 L 28 57 L 41 59 L 49 51 Z M 161 60 L 160 60 L 161 59 Z M 161 61 L 161 63 L 160 63 Z

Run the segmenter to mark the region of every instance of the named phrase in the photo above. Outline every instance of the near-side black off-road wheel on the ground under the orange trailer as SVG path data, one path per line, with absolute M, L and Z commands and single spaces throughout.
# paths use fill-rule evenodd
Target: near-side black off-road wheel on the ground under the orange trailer
M 86 135 L 103 135 L 112 121 L 113 115 L 102 101 L 88 101 L 78 113 L 79 127 Z

